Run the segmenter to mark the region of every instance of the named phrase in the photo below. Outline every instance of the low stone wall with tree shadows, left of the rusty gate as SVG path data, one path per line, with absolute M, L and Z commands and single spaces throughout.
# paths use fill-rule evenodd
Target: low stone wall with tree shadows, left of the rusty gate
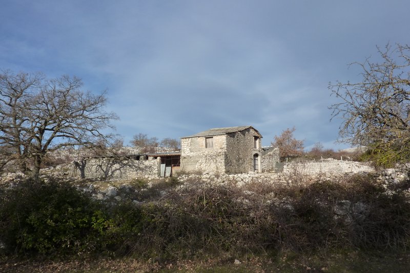
M 104 180 L 147 178 L 159 176 L 160 158 L 133 160 L 128 158 L 97 157 L 73 162 L 73 176 Z

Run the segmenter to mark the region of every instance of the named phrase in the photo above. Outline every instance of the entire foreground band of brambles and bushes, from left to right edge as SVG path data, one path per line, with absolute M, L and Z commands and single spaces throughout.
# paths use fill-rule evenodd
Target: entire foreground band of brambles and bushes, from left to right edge
M 0 251 L 165 261 L 408 247 L 410 203 L 399 189 L 407 184 L 391 191 L 370 176 L 352 176 L 308 186 L 181 188 L 173 178 L 155 186 L 169 187 L 157 198 L 155 187 L 138 180 L 128 190 L 144 201 L 136 203 L 99 201 L 78 186 L 28 179 L 1 189 Z

